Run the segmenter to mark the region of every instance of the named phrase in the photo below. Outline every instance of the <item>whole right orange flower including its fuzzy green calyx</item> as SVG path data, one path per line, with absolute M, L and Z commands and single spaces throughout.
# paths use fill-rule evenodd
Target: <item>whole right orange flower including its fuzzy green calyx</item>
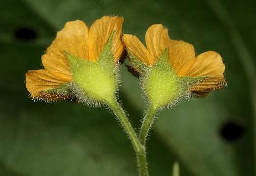
M 130 61 L 142 77 L 142 88 L 155 106 L 170 105 L 185 94 L 204 97 L 226 85 L 218 53 L 196 56 L 193 45 L 170 39 L 162 24 L 150 26 L 145 40 L 146 47 L 136 36 L 123 36 Z

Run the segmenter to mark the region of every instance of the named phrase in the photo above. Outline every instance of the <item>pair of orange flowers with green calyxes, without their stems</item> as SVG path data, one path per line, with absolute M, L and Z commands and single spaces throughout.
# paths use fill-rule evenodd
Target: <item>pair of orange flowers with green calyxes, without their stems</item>
M 31 97 L 114 101 L 124 48 L 141 77 L 144 93 L 157 108 L 187 95 L 204 97 L 226 85 L 225 66 L 218 53 L 196 56 L 193 45 L 170 39 L 161 24 L 148 28 L 145 47 L 136 36 L 122 34 L 123 21 L 122 17 L 104 16 L 90 29 L 80 20 L 67 22 L 42 56 L 44 69 L 26 73 Z

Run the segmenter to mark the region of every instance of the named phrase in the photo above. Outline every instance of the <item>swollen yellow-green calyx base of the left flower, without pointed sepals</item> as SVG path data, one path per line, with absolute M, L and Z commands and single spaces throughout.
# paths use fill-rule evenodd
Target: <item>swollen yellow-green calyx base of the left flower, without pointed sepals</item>
M 73 79 L 77 86 L 92 99 L 109 102 L 115 97 L 116 76 L 113 71 L 103 69 L 98 64 L 83 66 L 76 74 L 73 74 Z

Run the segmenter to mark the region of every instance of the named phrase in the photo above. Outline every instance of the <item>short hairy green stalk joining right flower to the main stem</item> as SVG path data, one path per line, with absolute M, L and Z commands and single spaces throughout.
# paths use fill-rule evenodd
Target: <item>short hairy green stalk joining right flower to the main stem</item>
M 147 111 L 145 117 L 143 118 L 143 122 L 142 122 L 142 125 L 140 128 L 140 133 L 139 133 L 139 139 L 143 146 L 146 145 L 147 136 L 148 136 L 149 130 L 153 124 L 154 115 L 155 115 L 156 111 L 157 110 L 150 107 L 149 110 Z

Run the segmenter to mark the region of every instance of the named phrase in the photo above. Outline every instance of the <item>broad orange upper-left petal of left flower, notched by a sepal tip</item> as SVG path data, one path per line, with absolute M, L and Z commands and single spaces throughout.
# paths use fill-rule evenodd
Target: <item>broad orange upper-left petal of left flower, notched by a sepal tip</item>
M 88 27 L 80 20 L 67 22 L 57 33 L 56 39 L 42 56 L 45 69 L 71 75 L 69 63 L 63 51 L 79 58 L 88 59 Z

